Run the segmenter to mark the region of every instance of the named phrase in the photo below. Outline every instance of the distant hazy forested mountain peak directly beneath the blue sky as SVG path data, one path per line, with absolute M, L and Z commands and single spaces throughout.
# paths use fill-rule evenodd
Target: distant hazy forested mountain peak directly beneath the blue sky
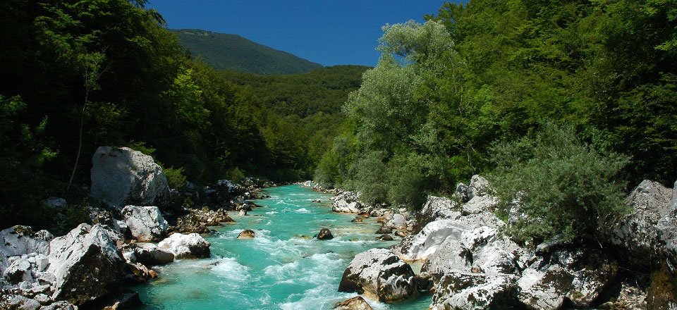
M 171 30 L 193 56 L 217 70 L 235 70 L 256 74 L 305 73 L 322 68 L 285 51 L 252 42 L 239 35 L 196 29 Z

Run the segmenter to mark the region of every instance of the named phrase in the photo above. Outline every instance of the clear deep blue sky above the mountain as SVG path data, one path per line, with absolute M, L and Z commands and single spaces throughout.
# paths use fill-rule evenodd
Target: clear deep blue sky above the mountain
M 240 35 L 323 66 L 376 66 L 381 27 L 423 22 L 442 0 L 150 0 L 171 29 Z

